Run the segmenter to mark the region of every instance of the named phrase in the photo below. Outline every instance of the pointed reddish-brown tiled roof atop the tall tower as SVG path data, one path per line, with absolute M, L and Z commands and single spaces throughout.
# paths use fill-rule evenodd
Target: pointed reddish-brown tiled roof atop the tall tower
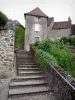
M 46 14 L 42 12 L 40 8 L 35 8 L 32 11 L 25 13 L 25 15 L 34 15 L 34 16 L 41 16 L 41 17 L 48 17 Z

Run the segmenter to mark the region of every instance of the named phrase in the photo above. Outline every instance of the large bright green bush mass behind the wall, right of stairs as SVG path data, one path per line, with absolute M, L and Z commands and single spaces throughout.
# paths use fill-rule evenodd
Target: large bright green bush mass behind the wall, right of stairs
M 64 45 L 60 41 L 51 41 L 51 40 L 43 40 L 39 43 L 38 49 L 41 49 L 48 53 L 48 55 L 52 55 L 57 60 L 58 64 L 65 69 L 65 71 L 69 72 L 72 76 L 75 76 L 75 58 L 71 54 L 71 51 L 68 50 L 67 46 Z M 40 52 L 42 54 L 42 51 Z M 42 54 L 42 57 L 44 54 Z M 44 57 L 46 58 L 46 57 Z M 47 59 L 47 58 L 46 58 Z M 49 59 L 50 60 L 50 59 Z M 42 62 L 42 61 L 41 61 Z M 40 62 L 40 63 L 41 63 Z M 43 61 L 44 63 L 44 61 Z M 41 65 L 43 65 L 43 63 Z M 44 66 L 44 65 L 43 65 Z

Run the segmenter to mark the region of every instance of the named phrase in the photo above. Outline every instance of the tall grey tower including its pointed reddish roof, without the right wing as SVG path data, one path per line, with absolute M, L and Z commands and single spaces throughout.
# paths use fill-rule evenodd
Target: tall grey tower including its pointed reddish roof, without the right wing
M 25 13 L 25 42 L 24 49 L 29 51 L 29 45 L 36 40 L 42 40 L 47 36 L 48 16 L 38 7 Z

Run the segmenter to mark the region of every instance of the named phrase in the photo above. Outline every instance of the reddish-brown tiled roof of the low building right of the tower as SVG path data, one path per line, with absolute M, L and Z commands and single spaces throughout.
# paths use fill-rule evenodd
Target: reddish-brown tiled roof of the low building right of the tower
M 71 21 L 54 22 L 52 29 L 66 29 L 71 27 Z

